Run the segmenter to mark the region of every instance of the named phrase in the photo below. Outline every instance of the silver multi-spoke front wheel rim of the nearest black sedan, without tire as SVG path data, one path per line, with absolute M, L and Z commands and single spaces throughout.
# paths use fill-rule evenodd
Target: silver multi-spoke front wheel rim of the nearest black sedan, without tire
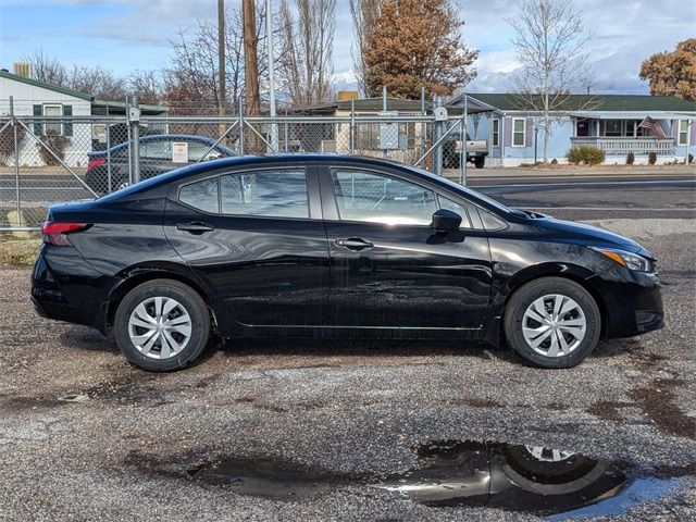
M 563 357 L 585 338 L 583 309 L 568 296 L 549 294 L 534 300 L 522 319 L 522 334 L 530 348 L 545 357 Z

